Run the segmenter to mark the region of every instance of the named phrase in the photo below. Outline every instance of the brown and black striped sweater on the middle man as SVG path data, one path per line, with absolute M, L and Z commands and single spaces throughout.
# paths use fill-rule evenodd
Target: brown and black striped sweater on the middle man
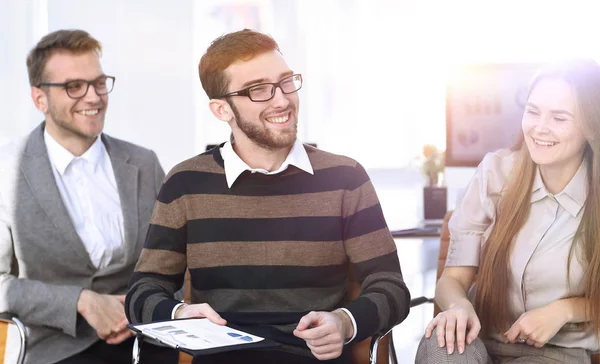
M 154 206 L 130 283 L 130 322 L 170 319 L 190 271 L 192 303 L 228 322 L 306 348 L 292 331 L 309 311 L 347 308 L 356 341 L 408 315 L 410 295 L 375 190 L 356 161 L 305 146 L 294 166 L 244 172 L 227 187 L 220 149 L 177 165 Z M 361 286 L 348 297 L 352 275 Z

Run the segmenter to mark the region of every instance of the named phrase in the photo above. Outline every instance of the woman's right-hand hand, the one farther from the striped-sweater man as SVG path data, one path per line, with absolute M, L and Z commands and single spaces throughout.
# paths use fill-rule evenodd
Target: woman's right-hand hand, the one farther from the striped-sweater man
M 527 311 L 504 333 L 512 343 L 544 346 L 568 322 L 567 315 L 554 302 Z

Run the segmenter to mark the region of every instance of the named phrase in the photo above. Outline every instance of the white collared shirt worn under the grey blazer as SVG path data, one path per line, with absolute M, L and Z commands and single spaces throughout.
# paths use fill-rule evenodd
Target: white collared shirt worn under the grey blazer
M 44 131 L 56 186 L 73 226 L 98 269 L 124 258 L 123 211 L 115 173 L 100 136 L 76 157 Z

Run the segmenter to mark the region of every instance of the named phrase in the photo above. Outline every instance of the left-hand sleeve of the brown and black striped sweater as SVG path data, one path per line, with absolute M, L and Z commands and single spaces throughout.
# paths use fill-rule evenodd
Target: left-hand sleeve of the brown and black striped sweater
M 125 312 L 131 323 L 171 319 L 186 270 L 187 218 L 180 175 L 167 177 L 154 205 L 144 248 L 129 283 Z

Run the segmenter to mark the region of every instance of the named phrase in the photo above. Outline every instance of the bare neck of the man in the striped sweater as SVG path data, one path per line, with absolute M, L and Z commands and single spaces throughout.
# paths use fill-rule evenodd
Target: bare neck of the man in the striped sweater
M 250 168 L 260 168 L 269 172 L 279 169 L 290 150 L 292 150 L 292 145 L 280 149 L 266 149 L 252 143 L 250 140 L 237 139 L 232 147 L 235 153 Z

